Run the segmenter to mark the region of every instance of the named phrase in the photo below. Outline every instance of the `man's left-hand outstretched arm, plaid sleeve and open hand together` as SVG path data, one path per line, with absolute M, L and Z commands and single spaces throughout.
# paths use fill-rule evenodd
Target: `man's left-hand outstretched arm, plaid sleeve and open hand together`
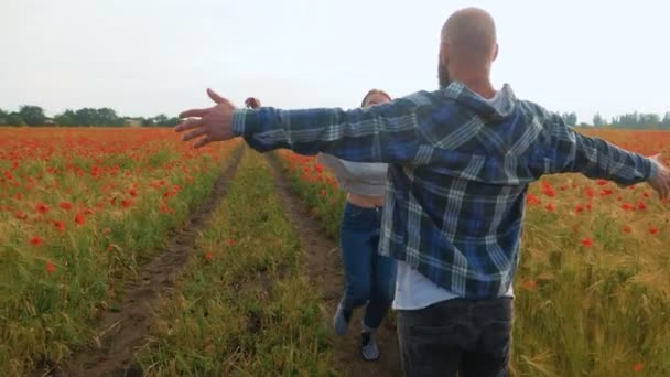
M 431 106 L 428 94 L 419 93 L 352 110 L 272 107 L 250 110 L 235 109 L 227 99 L 212 90 L 208 94 L 217 105 L 184 111 L 182 118 L 197 118 L 187 119 L 176 128 L 176 131 L 194 129 L 184 140 L 204 136 L 196 147 L 240 136 L 261 152 L 288 148 L 301 154 L 325 152 L 360 162 L 413 160 L 419 147 L 425 143 L 419 131 L 419 119 Z

